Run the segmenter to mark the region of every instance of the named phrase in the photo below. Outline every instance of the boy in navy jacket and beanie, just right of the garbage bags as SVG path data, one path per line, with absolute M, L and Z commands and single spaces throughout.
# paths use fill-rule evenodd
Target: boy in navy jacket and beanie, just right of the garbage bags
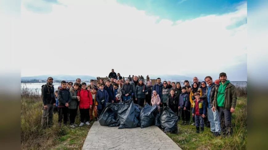
M 186 87 L 181 88 L 181 94 L 179 97 L 179 111 L 181 111 L 181 125 L 187 125 L 190 121 L 190 99 Z

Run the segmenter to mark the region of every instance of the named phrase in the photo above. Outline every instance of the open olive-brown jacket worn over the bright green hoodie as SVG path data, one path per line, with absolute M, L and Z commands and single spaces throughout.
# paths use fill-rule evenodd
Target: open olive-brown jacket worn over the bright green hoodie
M 221 83 L 220 83 L 221 84 Z M 213 100 L 213 106 L 215 106 L 215 110 L 217 110 L 217 94 L 218 94 L 218 88 L 220 86 L 218 84 L 215 88 L 215 94 L 214 94 L 214 100 Z M 225 87 L 225 96 L 224 96 L 224 106 L 223 109 L 231 109 L 231 107 L 235 108 L 237 96 L 235 91 L 235 86 L 232 83 L 227 83 Z

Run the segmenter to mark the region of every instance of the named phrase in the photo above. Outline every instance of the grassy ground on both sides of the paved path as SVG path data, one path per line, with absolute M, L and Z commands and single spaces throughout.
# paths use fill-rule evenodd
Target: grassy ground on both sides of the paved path
M 246 87 L 237 88 L 238 101 L 232 114 L 233 136 L 214 137 L 209 128 L 203 133 L 195 133 L 195 126 L 178 125 L 179 133 L 167 135 L 182 149 L 234 149 L 247 148 L 247 98 Z M 37 90 L 22 89 L 21 95 L 21 149 L 80 150 L 91 128 L 84 125 L 71 129 L 69 125 L 58 126 L 58 115 L 54 114 L 51 128 L 41 129 L 42 101 Z M 76 124 L 79 123 L 79 113 Z M 178 124 L 181 124 L 179 121 Z

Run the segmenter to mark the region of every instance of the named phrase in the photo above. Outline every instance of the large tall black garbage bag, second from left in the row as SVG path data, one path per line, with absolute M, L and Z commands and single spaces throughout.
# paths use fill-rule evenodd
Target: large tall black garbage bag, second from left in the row
M 137 118 L 140 115 L 140 110 L 134 105 L 133 99 L 130 99 L 124 104 L 120 105 L 117 110 L 117 115 L 120 121 L 118 129 L 124 128 L 136 128 L 140 126 L 140 122 Z

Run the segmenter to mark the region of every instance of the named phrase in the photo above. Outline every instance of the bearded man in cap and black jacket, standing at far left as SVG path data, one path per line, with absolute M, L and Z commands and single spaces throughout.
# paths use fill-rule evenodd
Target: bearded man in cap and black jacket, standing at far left
M 47 78 L 47 84 L 45 84 L 41 89 L 41 98 L 43 100 L 43 117 L 42 117 L 42 128 L 52 126 L 53 121 L 53 110 L 54 104 L 56 103 L 54 95 L 54 86 L 52 85 L 53 78 Z

